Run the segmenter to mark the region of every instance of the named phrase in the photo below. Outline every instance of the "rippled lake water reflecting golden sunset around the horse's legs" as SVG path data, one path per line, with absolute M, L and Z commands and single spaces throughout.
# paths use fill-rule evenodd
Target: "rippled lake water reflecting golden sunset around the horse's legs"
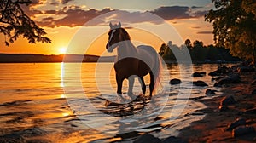
M 150 100 L 144 112 L 113 117 L 100 112 L 106 109 L 105 99 L 117 99 L 112 63 L 0 64 L 0 139 L 129 142 L 145 132 L 160 139 L 177 135 L 179 129 L 204 117 L 189 115 L 205 107 L 191 99 L 211 98 L 205 96 L 205 90 L 216 89 L 209 76 L 192 79 L 191 70 L 208 73 L 218 65 L 166 67 L 165 89 Z M 171 86 L 168 82 L 172 78 L 181 78 L 183 83 Z M 191 79 L 205 81 L 209 86 L 192 86 Z M 148 91 L 149 78 L 145 81 Z M 138 81 L 134 93 L 140 93 Z

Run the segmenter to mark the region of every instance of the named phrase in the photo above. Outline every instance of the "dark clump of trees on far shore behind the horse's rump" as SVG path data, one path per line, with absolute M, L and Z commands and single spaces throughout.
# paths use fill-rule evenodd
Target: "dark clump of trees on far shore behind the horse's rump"
M 205 46 L 201 41 L 196 40 L 191 43 L 187 39 L 181 47 L 169 43 L 163 43 L 160 47 L 159 54 L 164 60 L 171 62 L 176 62 L 177 57 L 181 56 L 179 59 L 182 59 L 182 56 L 185 55 L 185 52 L 189 52 L 192 62 L 232 62 L 240 61 L 241 59 L 236 58 L 230 54 L 229 49 L 219 48 L 216 46 L 208 45 Z M 186 54 L 188 55 L 188 54 Z

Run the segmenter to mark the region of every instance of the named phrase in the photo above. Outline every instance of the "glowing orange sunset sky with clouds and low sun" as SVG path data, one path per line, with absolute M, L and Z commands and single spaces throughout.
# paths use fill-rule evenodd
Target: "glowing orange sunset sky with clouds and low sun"
M 177 35 L 183 41 L 189 38 L 206 45 L 213 43 L 212 24 L 204 21 L 204 14 L 213 9 L 211 0 L 33 0 L 22 8 L 44 28 L 45 37 L 52 43 L 30 44 L 21 37 L 6 47 L 5 37 L 0 33 L 0 53 L 63 54 L 67 50 L 68 54 L 101 55 L 108 42 L 110 21 L 121 21 L 132 40 L 158 50 L 165 40 L 143 26 L 162 26 L 163 21 L 155 20 L 154 16 L 145 18 L 147 13 L 160 16 L 177 31 L 172 33 L 162 28 L 166 35 L 171 35 L 169 40 L 174 44 L 180 44 L 175 43 Z

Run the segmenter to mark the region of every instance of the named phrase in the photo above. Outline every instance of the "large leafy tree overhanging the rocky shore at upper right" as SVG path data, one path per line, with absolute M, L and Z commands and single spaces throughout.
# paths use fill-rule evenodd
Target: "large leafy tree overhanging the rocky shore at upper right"
M 230 49 L 230 54 L 242 59 L 256 60 L 256 2 L 255 0 L 212 0 L 205 20 L 213 22 L 214 42 Z

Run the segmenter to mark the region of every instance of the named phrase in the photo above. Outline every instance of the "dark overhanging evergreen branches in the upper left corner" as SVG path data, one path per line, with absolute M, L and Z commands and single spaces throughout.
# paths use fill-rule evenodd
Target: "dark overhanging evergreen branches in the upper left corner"
M 51 43 L 46 32 L 31 20 L 20 8 L 20 4 L 29 5 L 31 0 L 0 0 L 0 32 L 5 37 L 5 44 L 20 37 L 25 37 L 29 43 Z M 8 39 L 7 39 L 8 38 Z

